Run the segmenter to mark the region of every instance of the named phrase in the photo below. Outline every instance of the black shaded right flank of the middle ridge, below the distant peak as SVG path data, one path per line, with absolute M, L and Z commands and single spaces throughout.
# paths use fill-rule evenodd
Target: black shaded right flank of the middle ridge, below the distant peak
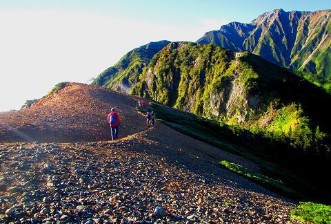
M 259 91 L 264 91 L 265 95 L 278 98 L 284 105 L 297 104 L 300 118 L 307 117 L 305 124 L 309 124 L 310 129 L 315 129 L 317 125 L 330 133 L 330 111 L 323 107 L 324 104 L 331 103 L 331 97 L 321 88 L 306 82 L 303 78 L 297 77 L 285 68 L 275 66 L 261 57 L 245 54 L 241 57 L 243 62 L 252 66 L 252 69 L 260 75 Z M 303 124 L 301 119 L 301 123 Z M 312 124 L 312 121 L 316 122 Z

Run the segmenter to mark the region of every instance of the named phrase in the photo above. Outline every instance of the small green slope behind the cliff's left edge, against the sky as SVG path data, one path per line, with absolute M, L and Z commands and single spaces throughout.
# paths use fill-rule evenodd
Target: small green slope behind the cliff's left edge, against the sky
M 129 92 L 138 81 L 139 74 L 150 59 L 170 41 L 150 42 L 131 50 L 117 64 L 103 71 L 93 82 L 93 86 L 103 86 L 116 91 Z

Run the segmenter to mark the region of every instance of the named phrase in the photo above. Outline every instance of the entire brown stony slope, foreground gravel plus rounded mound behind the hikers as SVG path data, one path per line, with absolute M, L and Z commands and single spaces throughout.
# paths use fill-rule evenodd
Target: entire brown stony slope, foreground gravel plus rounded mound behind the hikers
M 291 221 L 292 201 L 218 162 L 259 172 L 256 164 L 159 122 L 146 130 L 135 102 L 68 83 L 30 108 L 1 114 L 10 129 L 1 128 L 0 139 L 12 143 L 0 143 L 0 223 Z M 89 142 L 109 139 L 104 111 L 114 105 L 126 137 Z M 29 139 L 72 143 L 15 142 Z

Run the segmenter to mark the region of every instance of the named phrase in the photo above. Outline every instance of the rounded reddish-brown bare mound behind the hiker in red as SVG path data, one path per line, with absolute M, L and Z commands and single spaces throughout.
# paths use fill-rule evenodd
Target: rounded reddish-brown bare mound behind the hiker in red
M 137 100 L 106 88 L 70 83 L 28 109 L 0 114 L 0 142 L 77 142 L 110 140 L 107 115 L 121 116 L 119 137 L 145 129 Z

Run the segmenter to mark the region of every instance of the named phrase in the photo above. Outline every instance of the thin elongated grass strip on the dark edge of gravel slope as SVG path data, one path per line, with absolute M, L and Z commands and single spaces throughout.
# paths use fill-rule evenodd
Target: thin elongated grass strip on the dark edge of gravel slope
M 226 160 L 223 160 L 223 161 L 219 162 L 219 165 L 221 167 L 225 167 L 226 169 L 228 169 L 236 174 L 245 176 L 246 178 L 253 180 L 255 183 L 258 183 L 259 185 L 267 187 L 268 189 L 272 189 L 276 192 L 281 192 L 287 196 L 294 196 L 294 195 L 299 196 L 298 192 L 294 191 L 293 189 L 291 189 L 289 187 L 286 187 L 286 185 L 283 182 L 281 182 L 280 180 L 275 180 L 268 176 L 264 176 L 262 174 L 258 174 L 256 172 L 250 171 L 249 169 L 247 169 L 237 163 L 228 162 Z

